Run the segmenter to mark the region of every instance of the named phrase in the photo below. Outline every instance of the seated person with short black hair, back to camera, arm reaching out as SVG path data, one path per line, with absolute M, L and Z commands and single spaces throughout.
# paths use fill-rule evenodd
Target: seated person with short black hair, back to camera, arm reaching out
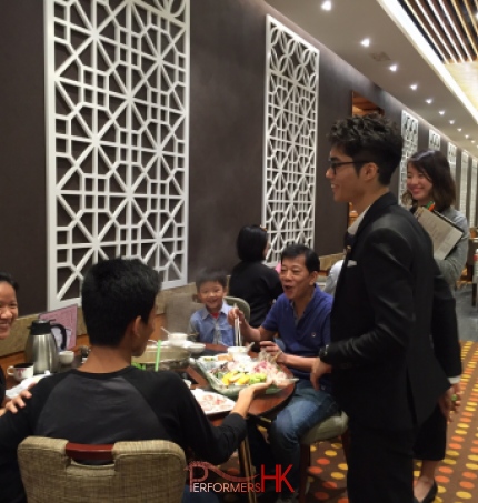
M 17 447 L 29 435 L 88 444 L 169 440 L 213 464 L 237 449 L 253 395 L 268 384 L 241 390 L 222 425 L 212 426 L 178 374 L 131 366 L 155 331 L 159 289 L 159 274 L 139 260 L 88 271 L 81 299 L 90 355 L 80 369 L 41 380 L 23 408 L 0 418 L 0 501 L 26 501 Z

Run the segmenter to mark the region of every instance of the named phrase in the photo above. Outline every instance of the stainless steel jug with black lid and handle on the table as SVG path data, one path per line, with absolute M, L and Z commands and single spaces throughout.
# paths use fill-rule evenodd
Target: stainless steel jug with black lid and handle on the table
M 24 356 L 28 362 L 33 362 L 33 373 L 42 374 L 44 371 L 57 372 L 59 366 L 58 346 L 54 335 L 51 332 L 53 328 L 60 329 L 61 345 L 64 350 L 67 346 L 67 330 L 60 323 L 51 323 L 50 320 L 33 320 L 30 325 L 30 334 L 24 348 Z

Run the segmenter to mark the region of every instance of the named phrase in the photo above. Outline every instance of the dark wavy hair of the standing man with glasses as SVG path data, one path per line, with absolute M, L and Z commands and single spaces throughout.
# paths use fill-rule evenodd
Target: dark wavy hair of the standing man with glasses
M 365 163 L 374 162 L 378 165 L 378 181 L 382 185 L 390 184 L 404 147 L 404 139 L 395 122 L 378 113 L 353 115 L 337 121 L 328 139 L 332 147 L 353 159 L 357 173 Z

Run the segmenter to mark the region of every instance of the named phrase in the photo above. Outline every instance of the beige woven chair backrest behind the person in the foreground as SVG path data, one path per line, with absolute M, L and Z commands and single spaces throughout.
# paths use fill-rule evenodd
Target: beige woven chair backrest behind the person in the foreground
M 18 447 L 18 461 L 28 502 L 181 502 L 186 457 L 179 445 L 163 440 L 117 442 L 101 446 L 100 459 L 111 460 L 110 464 L 74 461 L 94 459 L 90 447 L 97 446 L 26 439 Z

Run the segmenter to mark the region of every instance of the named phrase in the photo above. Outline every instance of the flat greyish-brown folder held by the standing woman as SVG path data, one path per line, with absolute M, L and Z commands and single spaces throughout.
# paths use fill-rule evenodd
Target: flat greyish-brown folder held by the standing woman
M 437 211 L 420 207 L 415 211 L 415 218 L 431 238 L 435 259 L 444 260 L 464 235 L 458 225 Z

